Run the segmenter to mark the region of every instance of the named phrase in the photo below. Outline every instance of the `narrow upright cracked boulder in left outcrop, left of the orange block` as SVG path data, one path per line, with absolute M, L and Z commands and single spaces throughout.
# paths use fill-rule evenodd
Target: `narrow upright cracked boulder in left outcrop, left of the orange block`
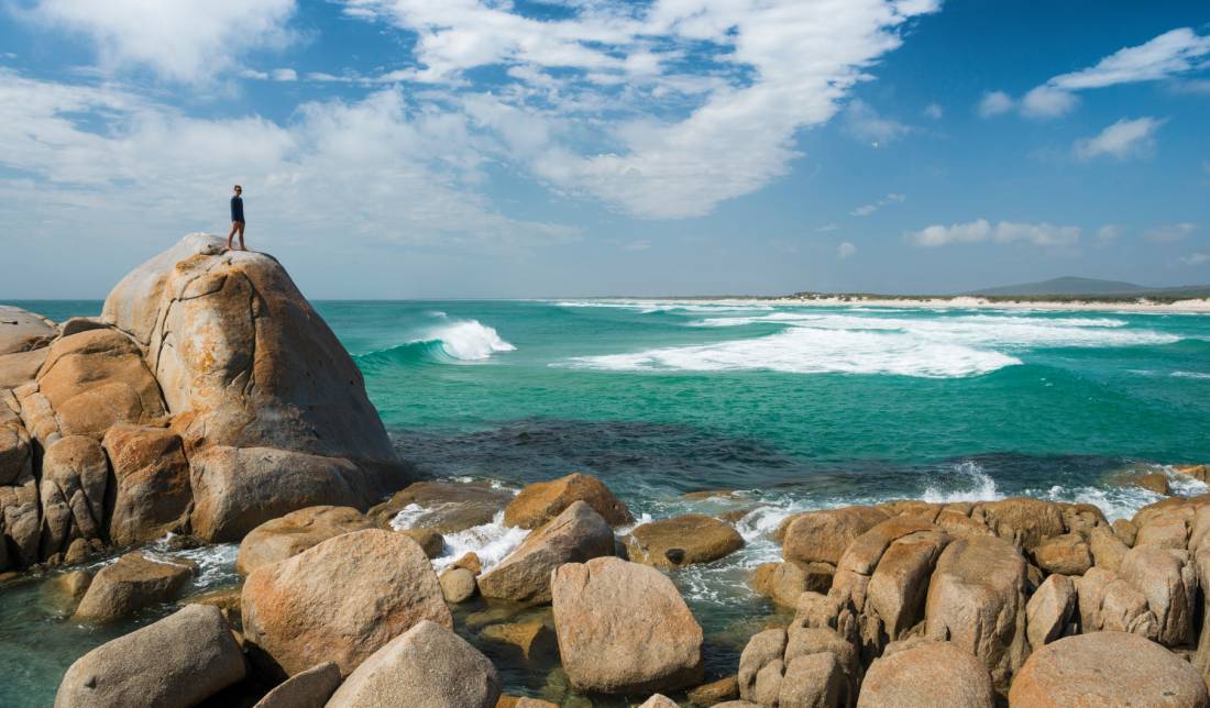
M 42 457 L 42 558 L 67 552 L 76 539 L 100 540 L 105 524 L 109 462 L 94 438 L 68 436 Z

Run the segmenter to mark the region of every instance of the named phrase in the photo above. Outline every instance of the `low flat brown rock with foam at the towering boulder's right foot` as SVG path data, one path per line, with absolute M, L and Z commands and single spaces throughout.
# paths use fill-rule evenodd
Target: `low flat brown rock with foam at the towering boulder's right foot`
M 442 534 L 482 526 L 505 510 L 513 495 L 488 483 L 416 482 L 390 500 L 373 507 L 368 516 L 382 529 L 432 529 Z M 405 520 L 397 522 L 405 511 Z

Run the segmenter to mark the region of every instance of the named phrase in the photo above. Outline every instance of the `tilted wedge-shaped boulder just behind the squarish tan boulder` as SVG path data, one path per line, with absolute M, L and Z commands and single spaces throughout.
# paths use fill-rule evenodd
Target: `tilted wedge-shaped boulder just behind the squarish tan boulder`
M 551 571 L 565 563 L 612 554 L 613 529 L 587 502 L 576 501 L 480 576 L 479 592 L 485 598 L 548 603 Z

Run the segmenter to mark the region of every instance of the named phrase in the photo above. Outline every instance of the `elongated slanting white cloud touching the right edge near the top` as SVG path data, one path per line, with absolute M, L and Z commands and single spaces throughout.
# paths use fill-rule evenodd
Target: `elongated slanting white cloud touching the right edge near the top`
M 1210 57 L 1210 36 L 1182 27 L 1151 41 L 1118 50 L 1094 67 L 1060 74 L 1047 84 L 1064 91 L 1104 88 L 1116 84 L 1158 81 L 1203 68 Z

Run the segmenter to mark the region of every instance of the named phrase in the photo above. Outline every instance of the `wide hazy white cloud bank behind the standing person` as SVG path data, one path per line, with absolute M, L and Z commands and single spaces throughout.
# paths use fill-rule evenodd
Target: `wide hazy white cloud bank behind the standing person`
M 0 179 L 0 221 L 57 234 L 119 223 L 131 198 L 149 230 L 221 228 L 240 183 L 261 234 L 476 252 L 577 237 L 492 208 L 476 191 L 484 160 L 466 117 L 413 113 L 396 88 L 307 103 L 278 123 L 195 119 L 108 86 L 0 70 L 0 166 L 17 175 Z

